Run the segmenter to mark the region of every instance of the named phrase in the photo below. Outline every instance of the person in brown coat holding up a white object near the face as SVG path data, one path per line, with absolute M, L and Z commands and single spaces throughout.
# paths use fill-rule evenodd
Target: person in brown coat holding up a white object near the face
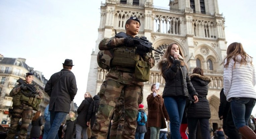
M 147 127 L 150 127 L 150 139 L 158 139 L 160 129 L 167 127 L 165 121 L 169 121 L 168 112 L 164 106 L 164 99 L 157 94 L 156 84 L 151 85 L 152 93 L 147 96 Z

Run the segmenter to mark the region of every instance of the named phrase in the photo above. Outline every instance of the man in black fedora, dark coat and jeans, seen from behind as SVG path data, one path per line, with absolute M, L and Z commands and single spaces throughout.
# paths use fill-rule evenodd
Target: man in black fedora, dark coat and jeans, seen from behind
M 70 111 L 70 103 L 74 100 L 77 87 L 76 77 L 71 72 L 73 61 L 65 59 L 63 69 L 54 73 L 45 85 L 44 91 L 50 96 L 49 111 L 51 128 L 46 139 L 58 139 L 58 130 Z

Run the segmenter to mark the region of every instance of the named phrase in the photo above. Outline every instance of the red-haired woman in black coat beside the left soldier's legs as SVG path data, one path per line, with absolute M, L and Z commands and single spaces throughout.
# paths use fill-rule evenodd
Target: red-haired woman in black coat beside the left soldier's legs
M 41 126 L 43 125 L 43 118 L 41 117 L 41 112 L 37 111 L 32 118 L 32 128 L 30 130 L 30 138 L 38 139 L 41 135 Z

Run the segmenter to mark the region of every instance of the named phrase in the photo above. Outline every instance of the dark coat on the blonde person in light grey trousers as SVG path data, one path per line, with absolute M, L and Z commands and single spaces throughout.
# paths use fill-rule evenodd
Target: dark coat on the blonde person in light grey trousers
M 85 98 L 77 109 L 78 116 L 76 118 L 76 123 L 82 127 L 87 127 L 87 113 L 92 101 L 92 98 Z

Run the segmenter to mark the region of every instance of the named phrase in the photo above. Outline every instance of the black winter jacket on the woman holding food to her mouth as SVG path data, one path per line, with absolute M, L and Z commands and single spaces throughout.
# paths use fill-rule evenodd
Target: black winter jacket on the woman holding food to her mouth
M 179 60 L 173 60 L 172 66 L 167 69 L 167 62 L 167 59 L 163 59 L 162 73 L 166 82 L 163 98 L 197 95 L 188 76 L 187 68 L 181 66 Z

